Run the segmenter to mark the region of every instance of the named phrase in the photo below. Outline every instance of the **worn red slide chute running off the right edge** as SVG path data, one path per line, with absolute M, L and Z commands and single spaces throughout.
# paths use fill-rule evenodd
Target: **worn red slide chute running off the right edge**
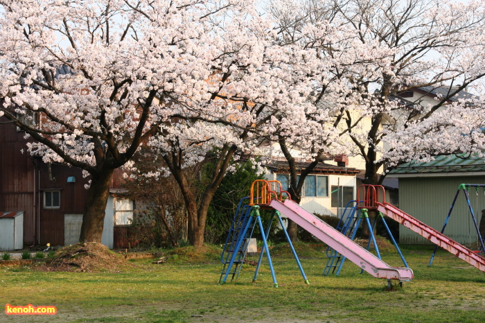
M 400 224 L 404 225 L 405 227 L 412 229 L 412 231 L 416 232 L 420 236 L 427 238 L 427 240 L 431 241 L 432 243 L 442 247 L 444 250 L 455 254 L 459 259 L 470 263 L 473 267 L 482 270 L 485 272 L 485 258 L 479 256 L 479 254 L 475 254 L 475 252 L 467 249 L 463 245 L 460 245 L 456 241 L 452 241 L 447 236 L 437 232 L 432 227 L 425 225 L 423 222 L 409 216 L 409 214 L 401 211 L 397 207 L 394 207 L 392 204 L 387 202 L 384 203 L 376 203 L 378 205 L 378 211 L 389 218 L 396 220 Z

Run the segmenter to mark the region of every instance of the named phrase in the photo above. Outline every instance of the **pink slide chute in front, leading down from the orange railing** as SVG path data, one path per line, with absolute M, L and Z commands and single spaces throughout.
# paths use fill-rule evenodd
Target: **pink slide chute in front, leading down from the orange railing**
M 271 200 L 270 207 L 279 211 L 282 215 L 287 216 L 290 220 L 310 232 L 313 236 L 332 247 L 342 256 L 349 259 L 360 268 L 369 272 L 373 277 L 383 279 L 398 279 L 399 281 L 408 281 L 413 279 L 413 272 L 409 268 L 394 268 L 384 261 L 378 259 L 357 243 L 351 241 L 337 230 L 330 227 L 312 213 L 306 211 L 299 204 L 292 200 Z

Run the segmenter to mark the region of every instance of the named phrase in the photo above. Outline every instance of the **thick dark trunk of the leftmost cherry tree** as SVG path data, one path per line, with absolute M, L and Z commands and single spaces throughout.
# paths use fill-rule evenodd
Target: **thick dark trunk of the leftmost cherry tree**
M 109 186 L 114 169 L 102 171 L 98 176 L 91 177 L 91 186 L 87 192 L 85 213 L 82 216 L 79 241 L 101 243 L 105 210 L 109 197 Z

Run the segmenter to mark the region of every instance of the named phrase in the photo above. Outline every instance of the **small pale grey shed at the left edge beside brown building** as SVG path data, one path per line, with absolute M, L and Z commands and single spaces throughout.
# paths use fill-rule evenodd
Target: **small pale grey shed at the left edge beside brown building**
M 0 212 L 0 250 L 24 248 L 24 212 Z

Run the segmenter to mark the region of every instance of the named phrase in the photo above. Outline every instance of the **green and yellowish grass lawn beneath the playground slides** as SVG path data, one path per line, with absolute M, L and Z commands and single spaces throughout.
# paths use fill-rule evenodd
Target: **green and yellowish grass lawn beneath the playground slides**
M 244 265 L 237 281 L 219 286 L 222 264 L 212 256 L 164 264 L 133 261 L 123 272 L 39 272 L 0 267 L 0 304 L 54 305 L 56 315 L 6 315 L 8 322 L 485 322 L 485 273 L 432 247 L 406 247 L 414 280 L 387 291 L 387 281 L 360 274 L 346 261 L 338 277 L 321 273 L 326 256 L 299 256 L 310 285 L 288 253 L 272 253 L 279 288 L 267 261 L 257 283 Z M 382 252 L 401 266 L 396 252 Z M 257 260 L 252 257 L 251 260 Z

